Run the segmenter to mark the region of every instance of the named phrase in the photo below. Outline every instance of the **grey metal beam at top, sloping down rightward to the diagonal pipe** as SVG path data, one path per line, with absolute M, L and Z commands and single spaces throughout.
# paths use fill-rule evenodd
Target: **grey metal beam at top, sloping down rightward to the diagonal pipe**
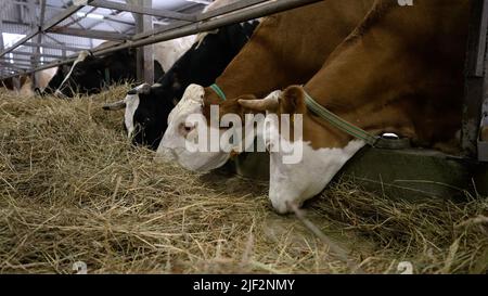
M 121 4 L 121 3 L 105 1 L 105 0 L 97 0 L 92 3 L 90 3 L 90 5 L 97 7 L 97 8 L 111 9 L 111 10 L 128 11 L 128 12 L 132 12 L 132 13 L 145 14 L 145 15 L 154 15 L 154 16 L 166 17 L 166 18 L 177 20 L 177 21 L 185 21 L 185 22 L 195 22 L 196 21 L 196 17 L 194 15 L 189 15 L 189 14 L 174 12 L 174 11 L 167 11 L 167 10 L 156 10 L 156 9 L 152 9 L 149 7 Z

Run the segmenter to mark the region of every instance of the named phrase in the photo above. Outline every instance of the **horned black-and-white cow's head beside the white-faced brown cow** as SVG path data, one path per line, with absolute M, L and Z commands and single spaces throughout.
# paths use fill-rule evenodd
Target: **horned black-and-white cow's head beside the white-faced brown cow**
M 124 126 L 132 143 L 156 150 L 166 130 L 168 114 L 175 107 L 166 98 L 162 85 L 143 83 L 130 90 L 124 100 L 104 105 L 103 108 L 125 108 Z

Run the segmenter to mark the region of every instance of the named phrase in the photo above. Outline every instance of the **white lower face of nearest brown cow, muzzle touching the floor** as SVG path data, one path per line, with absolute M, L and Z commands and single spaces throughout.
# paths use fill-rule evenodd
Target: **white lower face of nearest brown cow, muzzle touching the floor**
M 281 153 L 270 153 L 269 198 L 280 214 L 290 211 L 287 203 L 300 206 L 305 201 L 319 194 L 341 168 L 364 142 L 350 141 L 343 149 L 313 150 L 310 143 L 303 144 L 304 158 L 295 165 L 283 164 Z

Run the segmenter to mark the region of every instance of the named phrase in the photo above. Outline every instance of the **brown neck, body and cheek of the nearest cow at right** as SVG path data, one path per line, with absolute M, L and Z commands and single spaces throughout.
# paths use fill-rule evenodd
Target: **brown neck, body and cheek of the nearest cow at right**
M 424 147 L 458 151 L 452 139 L 461 126 L 468 1 L 375 3 L 305 89 L 372 134 L 394 132 Z M 304 139 L 313 147 L 352 139 L 313 114 L 304 120 Z

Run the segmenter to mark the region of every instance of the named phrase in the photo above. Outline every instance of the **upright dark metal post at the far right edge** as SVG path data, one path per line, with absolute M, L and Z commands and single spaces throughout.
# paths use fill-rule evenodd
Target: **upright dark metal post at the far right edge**
M 466 157 L 477 158 L 477 141 L 484 101 L 484 67 L 488 34 L 488 0 L 472 0 L 465 65 L 461 147 Z

